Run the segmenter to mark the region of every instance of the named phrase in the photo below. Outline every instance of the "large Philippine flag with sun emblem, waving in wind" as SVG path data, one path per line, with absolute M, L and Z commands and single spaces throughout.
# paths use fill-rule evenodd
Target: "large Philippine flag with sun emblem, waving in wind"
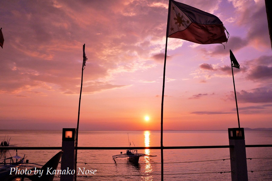
M 225 27 L 217 16 L 180 2 L 170 1 L 167 37 L 180 38 L 199 44 L 228 41 Z

